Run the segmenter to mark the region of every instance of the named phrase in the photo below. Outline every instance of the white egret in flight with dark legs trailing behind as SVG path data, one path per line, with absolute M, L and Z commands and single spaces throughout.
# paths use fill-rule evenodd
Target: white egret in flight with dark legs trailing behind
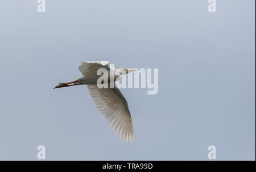
M 109 67 L 108 61 L 81 62 L 79 71 L 83 76 L 69 83 L 60 83 L 55 88 L 86 84 L 94 104 L 96 104 L 101 114 L 104 115 L 110 127 L 112 127 L 123 141 L 126 140 L 129 142 L 130 140 L 133 142 L 133 140 L 135 140 L 133 122 L 131 121 L 127 101 L 115 84 L 114 88 L 108 87 L 100 89 L 97 87 L 97 80 L 101 77 L 97 75 L 97 71 L 100 68 L 105 68 L 109 74 L 110 70 L 114 70 L 114 82 L 120 80 L 122 75 L 135 71 L 121 67 Z M 109 83 L 110 80 L 108 80 L 108 84 Z

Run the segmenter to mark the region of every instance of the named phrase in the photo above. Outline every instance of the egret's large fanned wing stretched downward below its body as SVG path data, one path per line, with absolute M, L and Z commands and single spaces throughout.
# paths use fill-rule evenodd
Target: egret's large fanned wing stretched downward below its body
M 90 96 L 110 127 L 123 141 L 135 140 L 133 122 L 127 101 L 117 87 L 99 89 L 97 85 L 87 85 Z

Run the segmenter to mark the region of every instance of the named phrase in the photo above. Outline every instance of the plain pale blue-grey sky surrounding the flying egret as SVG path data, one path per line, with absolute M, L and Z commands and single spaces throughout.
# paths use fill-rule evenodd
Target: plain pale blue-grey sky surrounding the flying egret
M 255 160 L 255 1 L 0 1 L 0 160 Z M 85 85 L 81 61 L 159 68 L 159 92 L 122 89 L 124 143 Z

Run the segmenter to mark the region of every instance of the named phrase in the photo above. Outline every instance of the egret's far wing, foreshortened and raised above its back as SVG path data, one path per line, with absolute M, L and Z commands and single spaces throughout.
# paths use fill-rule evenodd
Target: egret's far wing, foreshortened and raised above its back
M 79 71 L 82 75 L 86 75 L 89 72 L 97 72 L 99 68 L 106 68 L 109 70 L 108 61 L 92 61 L 92 62 L 81 62 L 79 66 Z

